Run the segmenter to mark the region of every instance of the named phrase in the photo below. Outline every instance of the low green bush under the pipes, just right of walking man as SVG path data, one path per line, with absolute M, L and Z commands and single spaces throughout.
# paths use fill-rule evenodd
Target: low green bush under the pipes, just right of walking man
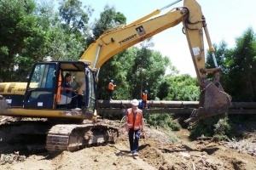
M 153 127 L 162 127 L 166 130 L 180 130 L 180 124 L 172 119 L 172 115 L 166 113 L 155 113 L 155 114 L 146 114 L 144 118 L 147 120 L 147 123 Z

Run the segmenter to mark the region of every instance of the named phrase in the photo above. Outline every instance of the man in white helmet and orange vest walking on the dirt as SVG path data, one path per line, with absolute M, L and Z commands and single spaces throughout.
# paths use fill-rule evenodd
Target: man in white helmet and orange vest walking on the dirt
M 132 156 L 138 156 L 138 146 L 141 133 L 143 133 L 143 111 L 138 109 L 139 101 L 131 100 L 131 108 L 127 109 L 126 130 L 128 131 L 130 150 Z

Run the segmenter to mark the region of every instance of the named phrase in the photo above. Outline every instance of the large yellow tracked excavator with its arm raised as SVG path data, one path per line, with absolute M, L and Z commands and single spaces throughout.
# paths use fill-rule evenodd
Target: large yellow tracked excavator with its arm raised
M 195 0 L 184 0 L 183 7 L 172 8 L 160 15 L 165 8 L 157 9 L 129 25 L 105 31 L 78 61 L 45 59 L 33 65 L 28 82 L 0 83 L 0 116 L 55 120 L 55 125 L 49 127 L 46 134 L 46 149 L 49 151 L 79 150 L 89 144 L 114 142 L 119 135 L 118 128 L 102 122 L 83 122 L 97 117 L 96 71 L 100 71 L 100 67 L 114 54 L 179 23 L 183 23 L 183 33 L 188 40 L 201 88 L 200 107 L 193 111 L 187 122 L 224 113 L 230 107 L 230 95 L 224 93 L 219 83 L 220 68 L 200 4 Z M 204 35 L 215 63 L 211 69 L 207 69 L 205 64 Z M 66 73 L 72 73 L 73 88 L 78 89 L 79 103 L 82 104 L 79 108 L 72 108 L 74 98 L 61 92 L 61 82 Z M 212 81 L 207 80 L 207 74 L 213 74 Z

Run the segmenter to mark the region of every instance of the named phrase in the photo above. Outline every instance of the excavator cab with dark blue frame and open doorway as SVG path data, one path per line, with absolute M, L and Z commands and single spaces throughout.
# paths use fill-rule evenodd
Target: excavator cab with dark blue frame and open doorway
M 67 92 L 61 90 L 61 83 L 66 73 L 72 75 L 70 82 L 73 87 L 72 96 L 66 95 Z M 95 85 L 93 72 L 83 61 L 38 62 L 33 66 L 27 82 L 24 108 L 53 110 L 77 108 L 93 113 L 96 104 Z M 76 105 L 71 105 L 73 100 L 77 100 Z

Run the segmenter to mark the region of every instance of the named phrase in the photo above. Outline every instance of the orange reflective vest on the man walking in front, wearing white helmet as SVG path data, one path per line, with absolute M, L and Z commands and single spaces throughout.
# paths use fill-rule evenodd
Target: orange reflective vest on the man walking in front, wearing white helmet
M 143 111 L 137 109 L 137 114 L 135 116 L 135 119 L 133 117 L 133 111 L 132 108 L 127 110 L 127 127 L 133 128 L 134 130 L 138 130 L 142 128 L 142 122 L 143 122 Z

